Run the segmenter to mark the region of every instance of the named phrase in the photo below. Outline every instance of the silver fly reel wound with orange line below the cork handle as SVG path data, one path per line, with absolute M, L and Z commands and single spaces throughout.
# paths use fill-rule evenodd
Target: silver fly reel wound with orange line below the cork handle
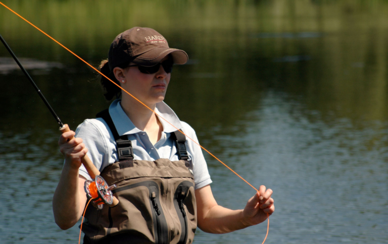
M 100 175 L 96 175 L 93 181 L 86 180 L 84 188 L 87 197 L 95 199 L 92 202 L 96 208 L 102 209 L 104 204 L 113 204 L 114 197 L 111 190 L 116 188 L 116 185 L 108 187 L 107 181 Z

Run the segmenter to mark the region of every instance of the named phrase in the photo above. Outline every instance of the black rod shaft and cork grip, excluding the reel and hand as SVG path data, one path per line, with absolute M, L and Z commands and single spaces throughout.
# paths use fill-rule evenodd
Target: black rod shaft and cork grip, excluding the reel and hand
M 37 85 L 35 84 L 35 82 L 32 80 L 31 76 L 28 74 L 28 72 L 24 69 L 24 67 L 22 66 L 22 64 L 20 63 L 19 59 L 17 58 L 17 56 L 15 55 L 15 53 L 12 51 L 11 47 L 7 44 L 6 40 L 4 40 L 3 36 L 0 35 L 0 40 L 3 42 L 4 46 L 7 48 L 8 52 L 11 54 L 11 56 L 15 59 L 16 63 L 18 64 L 18 66 L 20 67 L 20 69 L 23 71 L 23 73 L 26 75 L 26 77 L 28 78 L 28 80 L 30 81 L 31 85 L 35 88 L 36 92 L 39 94 L 40 98 L 43 100 L 44 104 L 46 105 L 47 108 L 49 108 L 50 112 L 53 114 L 54 118 L 56 119 L 57 123 L 59 124 L 60 126 L 60 131 L 63 133 L 65 132 L 69 132 L 70 131 L 70 128 L 68 125 L 64 125 L 61 121 L 61 119 L 58 117 L 58 115 L 55 113 L 54 109 L 50 106 L 49 102 L 47 102 L 46 98 L 43 96 L 42 92 L 40 91 L 40 89 L 37 87 Z M 68 140 L 72 140 L 74 137 L 71 137 L 69 138 Z M 87 172 L 89 173 L 90 177 L 91 178 L 96 178 L 96 176 L 100 175 L 100 171 L 94 166 L 94 164 L 91 162 L 90 158 L 85 155 L 81 158 L 81 162 L 82 164 L 85 166 Z M 99 177 L 99 180 L 101 181 L 102 177 Z M 109 192 L 110 192 L 110 189 L 109 189 Z M 109 193 L 108 193 L 109 194 Z M 110 195 L 112 195 L 112 192 L 110 192 Z M 117 200 L 116 197 L 113 197 L 113 202 L 111 203 L 112 201 L 109 201 L 108 203 L 105 201 L 105 203 L 107 203 L 110 207 L 113 207 L 113 206 L 116 206 L 119 201 Z

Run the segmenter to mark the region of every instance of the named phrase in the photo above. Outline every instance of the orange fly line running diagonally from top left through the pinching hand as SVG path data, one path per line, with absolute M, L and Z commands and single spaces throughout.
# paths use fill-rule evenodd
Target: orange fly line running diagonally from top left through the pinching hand
M 222 162 L 219 158 L 217 158 L 216 156 L 214 156 L 211 152 L 209 152 L 206 148 L 204 148 L 203 146 L 201 146 L 198 142 L 196 142 L 195 140 L 191 139 L 190 137 L 188 137 L 186 134 L 184 134 L 181 130 L 179 130 L 178 128 L 176 128 L 174 125 L 172 125 L 168 120 L 166 120 L 165 118 L 163 118 L 162 116 L 160 116 L 157 112 L 155 112 L 152 108 L 150 108 L 149 106 L 147 106 L 146 104 L 144 104 L 143 102 L 141 102 L 139 99 L 137 99 L 136 97 L 134 97 L 132 94 L 130 94 L 129 92 L 127 92 L 125 89 L 123 89 L 121 86 L 117 85 L 114 81 L 112 81 L 111 79 L 109 79 L 107 76 L 105 76 L 103 73 L 101 73 L 98 69 L 94 68 L 93 66 L 91 66 L 89 63 L 87 63 L 84 59 L 82 59 L 80 56 L 78 56 L 77 54 L 75 54 L 73 51 L 71 51 L 69 48 L 67 48 L 66 46 L 64 46 L 62 43 L 60 43 L 59 41 L 57 41 L 56 39 L 54 39 L 53 37 L 51 37 L 49 34 L 45 33 L 44 31 L 42 31 L 41 29 L 39 29 L 38 27 L 36 27 L 34 24 L 32 24 L 31 22 L 29 22 L 28 20 L 26 20 L 25 18 L 23 18 L 21 15 L 19 15 L 18 13 L 16 13 L 15 11 L 13 11 L 12 9 L 10 9 L 8 6 L 6 6 L 5 4 L 3 4 L 2 2 L 0 2 L 1 5 L 3 5 L 5 8 L 7 8 L 8 10 L 10 10 L 12 13 L 14 13 L 15 15 L 19 16 L 21 19 L 23 19 L 25 22 L 27 22 L 28 24 L 32 25 L 33 27 L 35 27 L 38 31 L 40 31 L 41 33 L 43 33 L 44 35 L 46 35 L 47 37 L 49 37 L 50 39 L 52 39 L 53 41 L 55 41 L 56 43 L 58 43 L 60 46 L 62 46 L 63 48 L 65 48 L 67 51 L 69 51 L 71 54 L 73 54 L 74 56 L 78 57 L 83 63 L 85 63 L 87 66 L 89 66 L 90 68 L 92 68 L 94 71 L 98 72 L 100 75 L 104 76 L 105 78 L 107 78 L 110 82 L 112 82 L 113 84 L 115 84 L 117 87 L 119 87 L 121 90 L 123 90 L 125 93 L 127 93 L 128 95 L 130 95 L 132 98 L 134 98 L 136 101 L 138 101 L 139 103 L 141 103 L 142 105 L 144 105 L 145 107 L 147 107 L 148 109 L 150 109 L 153 113 L 155 113 L 159 118 L 162 118 L 164 121 L 166 121 L 168 124 L 170 124 L 172 127 L 174 127 L 176 130 L 178 130 L 180 133 L 182 133 L 183 135 L 185 135 L 188 139 L 190 139 L 191 141 L 193 141 L 195 144 L 197 144 L 198 146 L 200 146 L 203 150 L 205 150 L 207 153 L 209 153 L 212 157 L 214 157 L 217 161 L 219 161 L 220 163 L 222 163 L 225 167 L 227 167 L 230 171 L 232 171 L 235 175 L 237 175 L 240 179 L 244 180 L 249 186 L 251 186 L 253 189 L 255 189 L 256 192 L 259 192 L 254 186 L 252 186 L 246 179 L 244 179 L 242 176 L 240 176 L 237 172 L 235 172 L 233 169 L 231 169 L 228 165 L 226 165 L 224 162 Z M 267 214 L 268 216 L 268 225 L 267 225 L 267 234 L 264 238 L 264 241 L 263 243 L 265 242 L 265 240 L 267 239 L 267 236 L 268 236 L 268 231 L 269 231 L 269 215 Z

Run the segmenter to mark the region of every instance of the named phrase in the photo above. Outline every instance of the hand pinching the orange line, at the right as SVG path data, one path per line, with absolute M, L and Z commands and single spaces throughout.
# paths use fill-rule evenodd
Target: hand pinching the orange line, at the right
M 244 208 L 244 223 L 247 226 L 256 225 L 264 222 L 269 215 L 275 211 L 273 205 L 272 190 L 260 186 L 259 192 L 255 194 Z

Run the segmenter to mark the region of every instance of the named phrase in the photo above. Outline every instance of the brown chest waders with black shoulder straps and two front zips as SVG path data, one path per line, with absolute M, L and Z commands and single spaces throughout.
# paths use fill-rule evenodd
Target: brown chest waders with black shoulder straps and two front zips
M 185 136 L 171 133 L 179 161 L 133 160 L 132 143 L 118 135 L 108 109 L 97 117 L 106 121 L 116 141 L 118 161 L 100 175 L 109 186 L 116 184 L 112 193 L 119 204 L 86 210 L 84 243 L 192 243 L 197 205 Z

